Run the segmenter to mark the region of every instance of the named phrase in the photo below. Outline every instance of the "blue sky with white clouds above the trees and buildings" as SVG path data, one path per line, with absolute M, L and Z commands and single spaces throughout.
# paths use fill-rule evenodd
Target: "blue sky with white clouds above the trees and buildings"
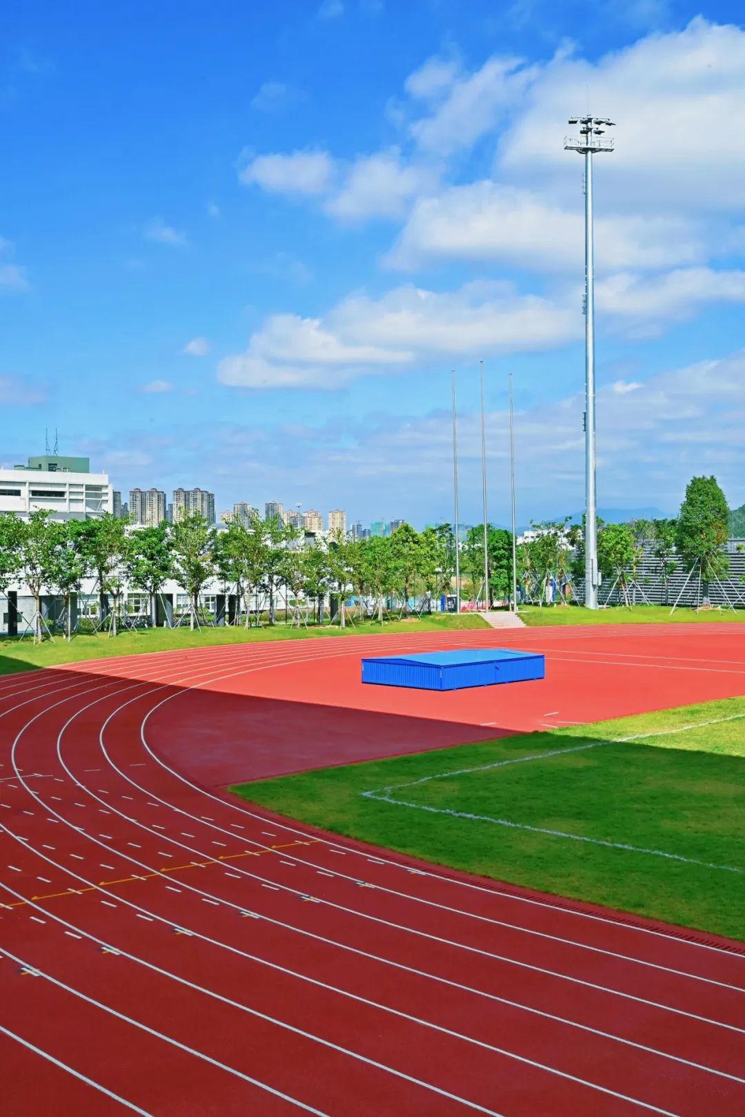
M 365 522 L 583 503 L 581 160 L 599 498 L 745 500 L 745 29 L 636 0 L 15 6 L 0 18 L 0 462 Z M 742 19 L 742 16 L 741 16 Z

